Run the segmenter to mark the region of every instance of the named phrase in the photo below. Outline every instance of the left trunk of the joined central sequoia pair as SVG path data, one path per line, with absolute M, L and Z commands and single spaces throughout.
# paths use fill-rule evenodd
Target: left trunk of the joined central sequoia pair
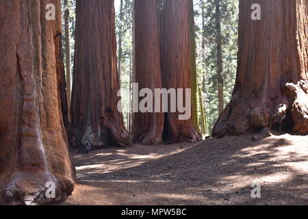
M 135 0 L 135 73 L 139 90 L 162 88 L 159 54 L 157 0 Z M 141 100 L 141 98 L 140 98 Z M 153 103 L 155 103 L 153 98 Z M 153 105 L 155 107 L 155 105 Z M 133 142 L 162 143 L 164 114 L 162 112 L 133 113 Z

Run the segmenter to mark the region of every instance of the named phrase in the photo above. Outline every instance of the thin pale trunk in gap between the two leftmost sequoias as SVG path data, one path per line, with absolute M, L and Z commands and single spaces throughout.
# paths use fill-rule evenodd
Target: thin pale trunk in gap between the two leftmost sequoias
M 70 112 L 70 99 L 71 99 L 71 76 L 70 76 L 70 11 L 68 9 L 68 0 L 64 0 L 64 32 L 65 32 L 65 72 L 66 72 L 66 96 L 68 112 Z M 68 114 L 70 120 L 70 114 Z

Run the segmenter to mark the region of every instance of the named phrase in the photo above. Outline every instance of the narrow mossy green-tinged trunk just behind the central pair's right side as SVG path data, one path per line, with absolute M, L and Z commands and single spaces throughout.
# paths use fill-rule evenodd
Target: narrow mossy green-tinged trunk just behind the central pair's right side
M 197 105 L 197 71 L 196 71 L 196 38 L 194 25 L 194 1 L 189 0 L 189 21 L 190 21 L 190 83 L 192 83 L 192 124 L 199 131 L 198 127 L 198 105 Z

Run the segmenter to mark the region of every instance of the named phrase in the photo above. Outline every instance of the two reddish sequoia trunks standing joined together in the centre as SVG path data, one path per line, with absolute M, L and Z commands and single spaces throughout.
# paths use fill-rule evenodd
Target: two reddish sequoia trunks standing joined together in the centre
M 135 72 L 139 88 L 192 88 L 188 0 L 135 1 Z M 170 105 L 168 107 L 170 109 Z M 192 119 L 179 112 L 134 113 L 133 142 L 197 142 Z

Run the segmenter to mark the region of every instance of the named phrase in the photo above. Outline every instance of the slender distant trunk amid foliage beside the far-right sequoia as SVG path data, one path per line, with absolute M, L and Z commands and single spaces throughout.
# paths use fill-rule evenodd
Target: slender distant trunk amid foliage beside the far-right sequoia
M 217 47 L 217 78 L 218 78 L 218 110 L 219 114 L 224 110 L 224 78 L 222 71 L 222 35 L 220 0 L 215 0 L 216 8 L 216 47 Z

